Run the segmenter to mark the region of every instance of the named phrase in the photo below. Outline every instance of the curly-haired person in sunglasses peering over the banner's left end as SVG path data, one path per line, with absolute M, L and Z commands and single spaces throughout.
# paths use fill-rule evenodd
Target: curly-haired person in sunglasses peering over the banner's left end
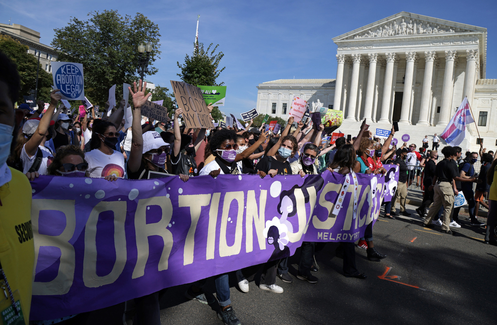
M 84 152 L 75 145 L 66 145 L 57 149 L 54 160 L 48 166 L 47 175 L 64 177 L 87 177 L 88 163 Z

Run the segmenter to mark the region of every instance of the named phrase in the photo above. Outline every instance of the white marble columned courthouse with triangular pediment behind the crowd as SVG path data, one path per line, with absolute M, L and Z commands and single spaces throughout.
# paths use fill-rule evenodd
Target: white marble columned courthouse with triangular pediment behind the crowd
M 280 79 L 259 84 L 257 111 L 287 118 L 293 96 L 343 111 L 340 130 L 353 136 L 366 119 L 421 144 L 440 135 L 465 96 L 476 123 L 461 143 L 497 147 L 497 79 L 485 79 L 487 28 L 400 12 L 333 38 L 336 79 Z M 480 137 L 478 136 L 476 125 Z M 442 146 L 445 144 L 441 140 Z

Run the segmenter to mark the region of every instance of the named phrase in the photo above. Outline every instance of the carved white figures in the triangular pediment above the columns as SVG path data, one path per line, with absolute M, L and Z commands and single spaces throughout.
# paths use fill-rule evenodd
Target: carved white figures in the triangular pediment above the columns
M 436 27 L 433 27 L 436 26 Z M 465 30 L 461 30 L 464 32 Z M 354 35 L 353 38 L 364 37 L 390 37 L 390 36 L 403 36 L 403 35 L 416 35 L 416 34 L 438 34 L 438 33 L 455 33 L 455 29 L 448 27 L 448 29 L 440 28 L 439 25 L 423 24 L 415 20 L 407 21 L 402 18 L 402 22 L 397 24 L 397 20 L 387 23 L 383 26 L 377 26 L 373 30 L 368 30 L 365 34 Z

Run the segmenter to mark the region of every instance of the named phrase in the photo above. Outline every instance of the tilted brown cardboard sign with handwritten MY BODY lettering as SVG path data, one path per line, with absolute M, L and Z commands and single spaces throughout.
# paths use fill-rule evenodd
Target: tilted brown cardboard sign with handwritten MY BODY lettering
M 214 127 L 200 88 L 172 80 L 171 86 L 178 108 L 183 110 L 182 117 L 186 127 Z

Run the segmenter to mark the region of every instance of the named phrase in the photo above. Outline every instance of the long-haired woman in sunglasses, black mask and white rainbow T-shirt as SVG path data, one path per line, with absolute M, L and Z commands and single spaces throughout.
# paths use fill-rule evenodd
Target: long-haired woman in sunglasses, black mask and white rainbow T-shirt
M 108 181 L 124 178 L 124 157 L 116 150 L 117 135 L 113 123 L 99 118 L 93 121 L 91 151 L 85 154 L 90 177 L 103 177 Z

